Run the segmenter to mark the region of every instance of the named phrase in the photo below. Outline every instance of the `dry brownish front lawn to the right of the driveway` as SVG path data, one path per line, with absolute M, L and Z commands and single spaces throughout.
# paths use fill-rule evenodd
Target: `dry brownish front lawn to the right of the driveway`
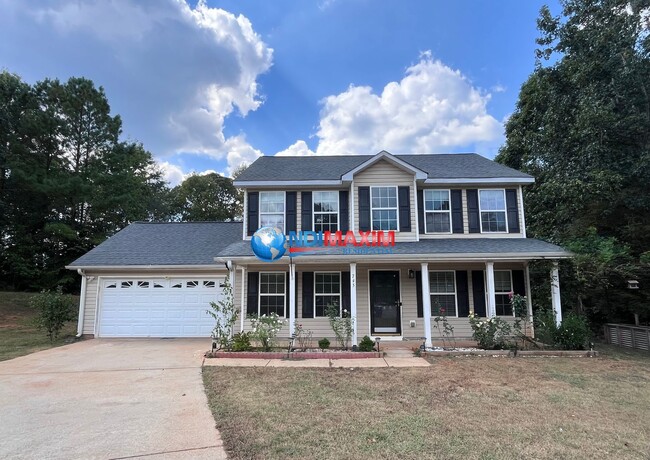
M 234 459 L 650 457 L 650 356 L 204 368 Z

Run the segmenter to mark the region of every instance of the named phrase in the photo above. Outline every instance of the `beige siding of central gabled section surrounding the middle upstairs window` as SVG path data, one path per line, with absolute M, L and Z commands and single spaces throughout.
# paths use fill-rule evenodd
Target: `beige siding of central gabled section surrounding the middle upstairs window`
M 373 186 L 408 186 L 411 204 L 411 231 L 395 232 L 396 241 L 415 241 L 417 239 L 417 211 L 415 209 L 415 190 L 413 189 L 413 174 L 406 172 L 388 161 L 380 160 L 354 176 L 354 229 L 359 229 L 359 187 Z M 398 208 L 399 214 L 399 208 Z

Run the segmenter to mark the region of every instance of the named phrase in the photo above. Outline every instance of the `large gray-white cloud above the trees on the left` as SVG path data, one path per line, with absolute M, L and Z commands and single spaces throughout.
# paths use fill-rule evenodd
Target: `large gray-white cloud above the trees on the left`
M 254 157 L 243 138 L 223 132 L 228 116 L 262 104 L 257 78 L 272 63 L 273 50 L 246 17 L 203 0 L 194 8 L 185 0 L 0 0 L 0 10 L 0 39 L 29 37 L 16 60 L 103 85 L 126 134 L 158 157 L 209 155 L 229 169 Z M 52 74 L 38 78 L 45 76 Z

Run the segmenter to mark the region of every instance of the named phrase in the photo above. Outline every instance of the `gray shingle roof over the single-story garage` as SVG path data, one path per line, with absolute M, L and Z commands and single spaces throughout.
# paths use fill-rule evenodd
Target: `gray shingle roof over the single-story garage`
M 242 239 L 241 222 L 135 222 L 69 265 L 214 265 L 214 257 Z

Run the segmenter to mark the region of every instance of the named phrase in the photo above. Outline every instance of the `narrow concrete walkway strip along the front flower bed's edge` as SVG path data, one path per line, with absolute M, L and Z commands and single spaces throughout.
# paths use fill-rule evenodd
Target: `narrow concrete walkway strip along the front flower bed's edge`
M 236 359 L 206 358 L 204 366 L 222 367 L 427 367 L 423 358 L 368 359 Z

